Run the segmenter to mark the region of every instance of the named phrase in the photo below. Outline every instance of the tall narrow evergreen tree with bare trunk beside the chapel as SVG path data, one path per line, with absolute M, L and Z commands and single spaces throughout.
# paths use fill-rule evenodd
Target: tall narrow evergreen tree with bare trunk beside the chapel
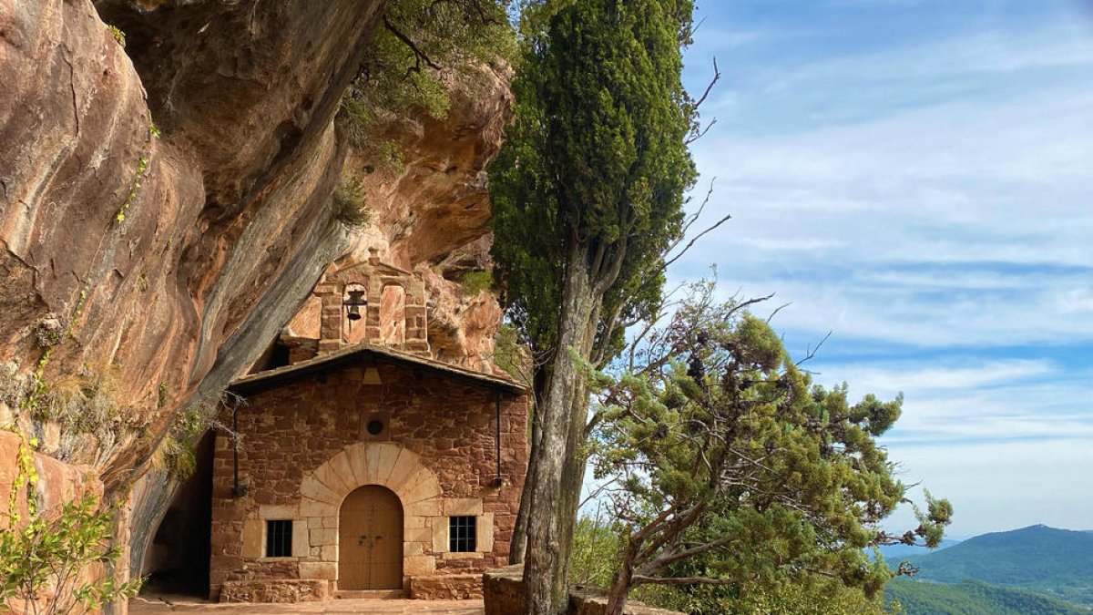
M 581 363 L 655 303 L 695 178 L 681 47 L 691 0 L 531 2 L 515 121 L 491 166 L 495 274 L 514 323 L 548 356 L 525 492 L 527 612 L 565 607 L 584 479 Z M 530 513 L 529 513 L 530 512 Z

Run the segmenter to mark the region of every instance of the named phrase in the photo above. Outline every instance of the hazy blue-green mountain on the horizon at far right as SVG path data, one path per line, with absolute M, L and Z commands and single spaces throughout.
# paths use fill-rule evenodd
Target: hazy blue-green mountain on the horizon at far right
M 975 579 L 1093 606 L 1093 533 L 1032 525 L 968 538 L 942 552 L 909 556 L 917 579 Z M 897 564 L 897 562 L 893 562 Z

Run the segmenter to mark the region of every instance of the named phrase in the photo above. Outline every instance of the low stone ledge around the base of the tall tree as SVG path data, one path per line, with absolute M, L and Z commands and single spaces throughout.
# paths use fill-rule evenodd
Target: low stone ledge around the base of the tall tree
M 521 615 L 524 613 L 524 565 L 489 570 L 482 575 L 485 615 Z M 608 600 L 603 590 L 584 585 L 569 588 L 568 615 L 603 615 Z M 654 608 L 640 602 L 627 601 L 626 615 L 683 615 L 675 611 Z

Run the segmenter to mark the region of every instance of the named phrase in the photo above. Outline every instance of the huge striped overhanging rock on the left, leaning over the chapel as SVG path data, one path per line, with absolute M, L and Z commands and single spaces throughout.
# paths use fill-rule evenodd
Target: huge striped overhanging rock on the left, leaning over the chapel
M 144 436 L 119 427 L 108 487 L 342 250 L 332 118 L 381 4 L 0 3 L 0 359 L 47 383 L 117 367 Z M 33 324 L 50 314 L 66 335 L 45 355 Z

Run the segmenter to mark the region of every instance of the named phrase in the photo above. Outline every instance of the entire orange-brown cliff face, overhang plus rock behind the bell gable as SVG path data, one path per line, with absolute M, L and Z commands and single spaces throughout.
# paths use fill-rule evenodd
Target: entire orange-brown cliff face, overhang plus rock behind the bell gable
M 377 248 L 421 271 L 434 348 L 492 349 L 496 302 L 462 282 L 487 266 L 506 79 L 453 79 L 446 119 L 376 127 L 401 165 L 365 173 L 334 115 L 384 4 L 0 0 L 0 423 L 108 492 L 140 479 L 138 557 L 171 421 L 254 363 L 331 263 Z M 330 205 L 351 175 L 373 220 L 352 232 Z M 92 406 L 95 425 L 66 422 Z

